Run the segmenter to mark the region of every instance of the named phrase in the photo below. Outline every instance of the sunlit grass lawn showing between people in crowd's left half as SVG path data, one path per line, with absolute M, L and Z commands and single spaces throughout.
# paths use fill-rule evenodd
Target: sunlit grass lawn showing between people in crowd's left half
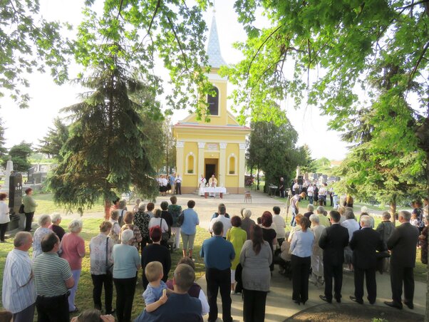
M 102 222 L 103 219 L 83 219 L 83 229 L 81 232 L 81 237 L 85 239 L 85 245 L 86 245 L 86 256 L 83 258 L 82 261 L 82 273 L 81 273 L 81 279 L 78 284 L 78 292 L 76 294 L 76 306 L 81 311 L 86 310 L 87 308 L 93 308 L 93 284 L 91 280 L 91 274 L 89 272 L 90 269 L 90 260 L 89 260 L 89 241 L 91 241 L 91 238 L 96 236 L 99 232 L 99 225 Z M 68 222 L 70 222 L 69 219 L 64 219 L 63 222 L 61 222 L 62 227 L 67 227 Z M 204 262 L 198 256 L 197 254 L 200 254 L 200 249 L 202 245 L 202 241 L 204 239 L 207 239 L 210 237 L 210 234 L 205 229 L 197 228 L 197 236 L 195 237 L 195 275 L 196 278 L 200 278 L 205 271 Z M 8 241 L 5 244 L 1 244 L 0 247 L 0 281 L 3 281 L 3 271 L 4 271 L 4 264 L 6 261 L 6 256 L 11 251 L 11 249 L 14 248 L 13 241 L 11 239 L 8 239 Z M 31 255 L 32 249 L 30 249 L 30 255 Z M 182 256 L 181 252 L 175 251 L 175 253 L 172 254 L 172 268 L 170 270 L 170 274 L 168 275 L 169 279 L 172 278 L 172 272 L 174 271 L 175 267 L 177 266 L 177 261 L 179 261 L 180 257 Z M 139 284 L 136 286 L 135 289 L 135 296 L 134 296 L 134 303 L 133 303 L 133 313 L 132 318 L 136 318 L 142 311 L 144 306 L 143 303 L 143 284 L 142 284 L 142 270 L 138 272 L 138 281 Z M 1 298 L 1 286 L 2 282 L 0 284 L 0 298 Z M 102 295 L 102 302 L 104 302 L 104 295 Z M 0 301 L 1 302 L 1 301 Z M 0 303 L 1 304 L 1 303 Z M 115 307 L 115 291 L 113 291 L 113 307 Z M 0 308 L 3 308 L 0 305 Z M 35 319 L 36 321 L 36 319 Z

